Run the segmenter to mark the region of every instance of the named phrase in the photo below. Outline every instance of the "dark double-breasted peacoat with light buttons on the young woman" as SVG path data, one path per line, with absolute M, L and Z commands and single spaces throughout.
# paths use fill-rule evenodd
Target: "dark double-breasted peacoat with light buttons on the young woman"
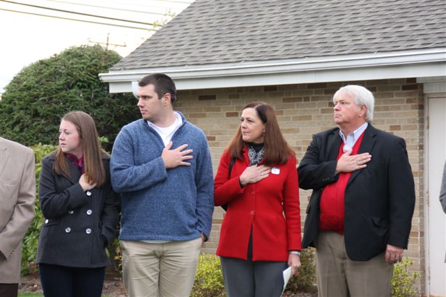
M 109 156 L 102 154 L 105 184 L 85 192 L 79 184 L 79 168 L 68 161 L 70 178 L 56 175 L 54 161 L 54 153 L 42 160 L 38 193 L 45 220 L 36 262 L 83 268 L 107 266 L 105 248 L 116 236 L 119 211 L 118 195 L 110 183 Z

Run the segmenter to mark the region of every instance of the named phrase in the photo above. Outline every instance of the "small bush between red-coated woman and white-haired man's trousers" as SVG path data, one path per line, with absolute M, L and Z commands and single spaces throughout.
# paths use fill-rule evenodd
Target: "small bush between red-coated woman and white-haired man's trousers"
M 316 263 L 314 248 L 302 250 L 300 254 L 300 264 L 298 271 L 293 275 L 286 285 L 286 294 L 295 294 L 297 292 L 314 291 L 316 282 Z

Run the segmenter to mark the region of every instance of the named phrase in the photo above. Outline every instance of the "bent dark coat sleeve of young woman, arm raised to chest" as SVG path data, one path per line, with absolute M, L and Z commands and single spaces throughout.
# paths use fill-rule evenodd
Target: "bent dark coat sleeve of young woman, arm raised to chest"
M 49 158 L 42 160 L 42 170 L 39 178 L 40 209 L 45 218 L 59 218 L 68 210 L 88 203 L 82 186 L 77 182 L 62 192 L 56 191 L 56 174 Z

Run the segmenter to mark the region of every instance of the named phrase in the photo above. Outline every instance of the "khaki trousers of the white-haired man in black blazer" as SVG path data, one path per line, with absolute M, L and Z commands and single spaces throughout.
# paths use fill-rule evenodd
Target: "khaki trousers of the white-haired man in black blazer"
M 344 235 L 319 232 L 316 244 L 318 296 L 390 296 L 393 264 L 385 252 L 369 261 L 348 259 Z

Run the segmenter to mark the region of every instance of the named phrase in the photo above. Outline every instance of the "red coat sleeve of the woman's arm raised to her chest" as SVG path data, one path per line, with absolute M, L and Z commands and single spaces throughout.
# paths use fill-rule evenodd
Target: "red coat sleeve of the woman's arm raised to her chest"
M 215 175 L 215 206 L 224 205 L 243 193 L 243 188 L 240 188 L 240 182 L 238 182 L 240 175 L 234 175 L 234 170 L 232 170 L 231 178 L 229 178 L 229 163 L 231 163 L 231 155 L 225 150 L 218 165 L 217 175 Z

